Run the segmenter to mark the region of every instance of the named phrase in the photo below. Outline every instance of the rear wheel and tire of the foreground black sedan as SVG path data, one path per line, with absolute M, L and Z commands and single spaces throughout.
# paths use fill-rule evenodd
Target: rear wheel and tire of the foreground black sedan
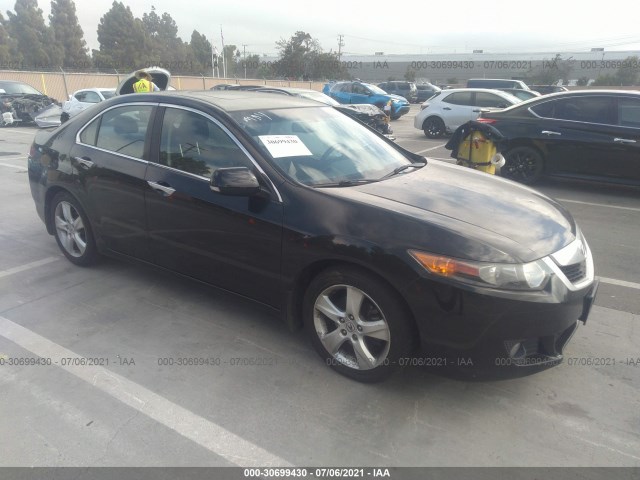
M 78 201 L 67 192 L 58 193 L 51 202 L 51 224 L 62 253 L 75 265 L 86 267 L 98 260 L 91 224 Z

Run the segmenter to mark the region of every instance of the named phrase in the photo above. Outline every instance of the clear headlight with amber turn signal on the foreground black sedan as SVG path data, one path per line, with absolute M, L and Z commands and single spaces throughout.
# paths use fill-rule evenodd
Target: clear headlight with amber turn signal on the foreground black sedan
M 542 260 L 530 263 L 488 263 L 459 260 L 417 250 L 410 250 L 409 253 L 433 275 L 487 288 L 542 290 L 552 274 Z

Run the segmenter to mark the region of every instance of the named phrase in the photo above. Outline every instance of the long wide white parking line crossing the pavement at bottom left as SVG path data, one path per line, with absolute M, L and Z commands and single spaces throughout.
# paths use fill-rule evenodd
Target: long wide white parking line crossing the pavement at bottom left
M 100 366 L 80 365 L 84 357 L 29 329 L 0 317 L 0 335 L 75 375 L 225 460 L 242 467 L 291 467 L 291 463 L 231 433 L 127 378 Z M 61 359 L 67 361 L 61 365 Z M 77 360 L 75 360 L 77 359 Z M 77 363 L 77 365 L 69 365 Z

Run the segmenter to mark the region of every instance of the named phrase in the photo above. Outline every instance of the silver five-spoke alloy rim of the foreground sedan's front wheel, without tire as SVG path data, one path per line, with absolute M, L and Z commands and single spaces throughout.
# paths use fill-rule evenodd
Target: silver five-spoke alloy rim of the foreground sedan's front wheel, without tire
M 391 331 L 378 305 L 359 288 L 334 285 L 316 298 L 313 320 L 333 359 L 355 370 L 386 364 Z

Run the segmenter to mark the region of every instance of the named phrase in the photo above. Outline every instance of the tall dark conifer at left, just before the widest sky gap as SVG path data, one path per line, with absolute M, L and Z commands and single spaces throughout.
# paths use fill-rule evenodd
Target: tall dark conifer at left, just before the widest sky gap
M 52 0 L 49 30 L 53 47 L 61 54 L 64 68 L 87 68 L 91 64 L 84 32 L 78 23 L 73 0 Z

